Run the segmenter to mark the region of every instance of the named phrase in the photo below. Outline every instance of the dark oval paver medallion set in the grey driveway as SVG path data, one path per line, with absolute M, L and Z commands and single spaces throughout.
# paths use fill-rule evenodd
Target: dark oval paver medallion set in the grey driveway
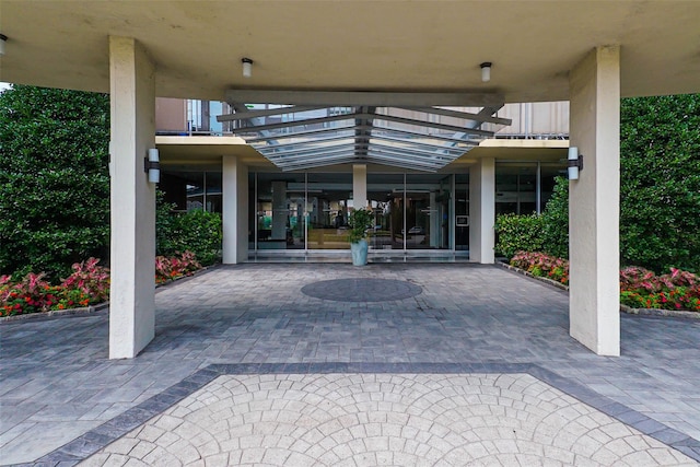
M 308 296 L 336 302 L 388 302 L 410 299 L 422 291 L 410 282 L 392 279 L 335 279 L 302 288 Z

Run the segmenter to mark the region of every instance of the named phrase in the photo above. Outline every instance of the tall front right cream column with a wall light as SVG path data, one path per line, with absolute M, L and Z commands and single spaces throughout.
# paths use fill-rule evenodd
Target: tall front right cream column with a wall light
M 620 354 L 620 51 L 598 47 L 570 74 L 571 145 L 584 170 L 569 182 L 569 322 L 600 355 Z

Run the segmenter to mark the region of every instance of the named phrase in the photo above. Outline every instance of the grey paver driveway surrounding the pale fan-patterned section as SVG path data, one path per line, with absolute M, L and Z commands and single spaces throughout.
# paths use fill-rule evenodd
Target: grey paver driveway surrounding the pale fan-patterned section
M 357 302 L 301 291 L 347 278 L 406 281 L 422 292 Z M 625 315 L 622 357 L 597 357 L 569 337 L 565 293 L 497 267 L 464 264 L 241 265 L 160 289 L 156 307 L 156 337 L 133 360 L 107 360 L 104 315 L 0 326 L 2 463 L 36 460 L 86 433 L 78 443 L 83 451 L 69 445 L 73 457 L 66 457 L 66 450 L 43 457 L 84 458 L 88 445 L 105 447 L 196 390 L 203 393 L 190 397 L 235 384 L 240 373 L 280 382 L 318 373 L 335 375 L 326 376 L 330 380 L 402 375 L 409 382 L 427 373 L 436 381 L 445 374 L 466 381 L 486 381 L 487 374 L 525 377 L 553 387 L 545 392 L 574 395 L 588 404 L 584 407 L 599 405 L 631 425 L 625 436 L 643 440 L 630 444 L 638 446 L 634 452 L 665 448 L 644 437 L 651 434 L 700 458 L 698 322 Z M 236 363 L 248 365 L 226 366 Z M 261 376 L 266 373 L 273 376 Z M 192 399 L 185 400 L 180 404 L 191 410 Z M 107 428 L 116 430 L 112 437 Z M 372 452 L 380 451 L 386 452 Z M 376 454 L 374 459 L 378 463 Z

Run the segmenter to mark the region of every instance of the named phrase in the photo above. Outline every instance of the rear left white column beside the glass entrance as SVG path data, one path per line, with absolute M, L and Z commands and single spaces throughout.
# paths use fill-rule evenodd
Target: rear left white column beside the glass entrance
M 224 265 L 248 259 L 248 167 L 233 155 L 222 161 L 222 221 Z

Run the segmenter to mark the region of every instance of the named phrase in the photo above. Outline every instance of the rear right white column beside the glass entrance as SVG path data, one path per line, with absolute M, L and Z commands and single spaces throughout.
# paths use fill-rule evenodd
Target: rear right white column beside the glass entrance
M 481 157 L 469 171 L 469 260 L 495 262 L 495 160 Z

